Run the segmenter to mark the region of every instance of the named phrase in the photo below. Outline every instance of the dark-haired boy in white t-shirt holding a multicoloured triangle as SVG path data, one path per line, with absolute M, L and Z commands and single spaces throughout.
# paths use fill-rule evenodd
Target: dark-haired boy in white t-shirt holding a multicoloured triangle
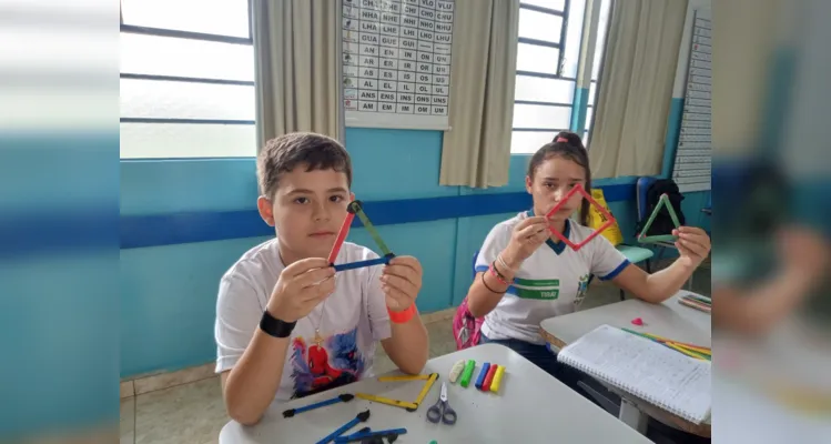
M 260 215 L 277 235 L 243 254 L 220 282 L 216 372 L 229 415 L 254 424 L 274 400 L 371 376 L 375 341 L 403 372 L 420 372 L 428 340 L 415 309 L 418 261 L 396 256 L 335 274 L 324 259 L 354 200 L 341 143 L 313 133 L 270 140 L 257 178 Z M 335 263 L 374 258 L 344 242 Z

